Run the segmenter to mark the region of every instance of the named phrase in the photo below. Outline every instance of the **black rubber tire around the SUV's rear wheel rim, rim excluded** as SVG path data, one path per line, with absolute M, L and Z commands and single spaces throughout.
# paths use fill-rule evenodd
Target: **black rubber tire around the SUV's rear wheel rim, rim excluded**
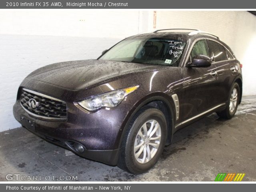
M 234 110 L 230 111 L 230 102 L 231 102 L 230 98 L 232 96 L 232 91 L 234 89 L 237 90 L 237 102 L 236 102 L 236 106 L 235 106 Z M 227 104 L 226 108 L 223 111 L 216 112 L 218 114 L 218 116 L 221 117 L 221 118 L 224 118 L 224 119 L 231 119 L 236 113 L 238 103 L 239 103 L 239 98 L 240 98 L 240 87 L 239 87 L 238 83 L 235 82 L 232 85 L 232 88 L 230 90 L 230 94 L 229 94 L 229 97 L 228 97 L 228 104 Z

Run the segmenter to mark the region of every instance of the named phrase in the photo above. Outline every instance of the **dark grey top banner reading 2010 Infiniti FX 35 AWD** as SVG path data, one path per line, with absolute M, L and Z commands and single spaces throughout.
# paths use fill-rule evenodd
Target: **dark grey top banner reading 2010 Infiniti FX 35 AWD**
M 256 9 L 243 0 L 1 0 L 1 9 Z

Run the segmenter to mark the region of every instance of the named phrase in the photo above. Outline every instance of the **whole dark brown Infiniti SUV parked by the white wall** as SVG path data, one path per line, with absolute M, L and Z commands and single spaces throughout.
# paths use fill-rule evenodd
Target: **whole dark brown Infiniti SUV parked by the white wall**
M 212 112 L 232 118 L 242 96 L 240 62 L 218 37 L 163 31 L 35 70 L 18 90 L 16 120 L 82 157 L 146 172 L 174 132 Z

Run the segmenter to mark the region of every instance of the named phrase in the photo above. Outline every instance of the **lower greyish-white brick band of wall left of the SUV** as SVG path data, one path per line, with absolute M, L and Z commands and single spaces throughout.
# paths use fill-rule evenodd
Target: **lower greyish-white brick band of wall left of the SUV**
M 22 80 L 47 64 L 97 58 L 121 39 L 60 36 L 0 35 L 0 131 L 20 126 L 12 105 Z

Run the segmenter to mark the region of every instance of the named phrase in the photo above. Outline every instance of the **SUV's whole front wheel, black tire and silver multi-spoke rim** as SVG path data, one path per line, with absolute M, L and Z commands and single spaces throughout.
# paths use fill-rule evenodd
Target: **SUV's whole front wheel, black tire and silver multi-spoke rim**
M 148 134 L 144 130 L 149 136 L 145 136 Z M 166 133 L 167 123 L 162 111 L 156 108 L 140 110 L 130 122 L 124 135 L 118 166 L 132 174 L 148 171 L 156 164 L 164 150 Z

